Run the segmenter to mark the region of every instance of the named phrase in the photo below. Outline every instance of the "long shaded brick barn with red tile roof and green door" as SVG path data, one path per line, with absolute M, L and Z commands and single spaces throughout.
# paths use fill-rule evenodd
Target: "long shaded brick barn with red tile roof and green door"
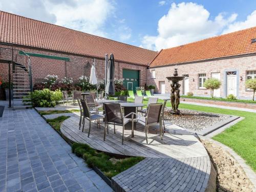
M 30 55 L 33 82 L 41 82 L 48 74 L 59 78 L 90 76 L 95 59 L 98 79 L 104 78 L 105 54 L 115 57 L 115 78 L 126 76 L 135 86 L 146 83 L 147 66 L 157 52 L 123 44 L 114 40 L 60 27 L 38 20 L 0 11 L 0 42 L 12 46 L 0 49 L 0 59 L 11 58 L 5 47 L 13 47 Z M 20 52 L 14 52 L 19 57 Z M 0 63 L 0 74 L 8 80 L 8 65 Z M 123 72 L 125 71 L 125 73 Z M 128 73 L 127 73 L 128 72 Z M 129 78 L 136 74 L 136 78 Z

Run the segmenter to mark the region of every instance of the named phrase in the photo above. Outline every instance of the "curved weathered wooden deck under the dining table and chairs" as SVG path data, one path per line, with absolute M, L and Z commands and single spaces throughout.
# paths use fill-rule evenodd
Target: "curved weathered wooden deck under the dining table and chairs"
M 87 137 L 89 122 L 86 122 L 84 132 L 79 130 L 78 123 L 78 115 L 70 117 L 61 124 L 61 133 L 72 141 L 89 144 L 99 151 L 125 156 L 155 158 L 208 156 L 204 146 L 194 135 L 175 125 L 166 125 L 163 140 L 160 139 L 159 127 L 150 127 L 148 144 L 146 144 L 142 126 L 137 124 L 137 129 L 134 131 L 135 137 L 131 138 L 131 127 L 127 125 L 125 127 L 124 143 L 122 145 L 121 126 L 116 126 L 116 134 L 114 134 L 113 126 L 110 126 L 109 134 L 106 135 L 106 140 L 103 141 L 103 122 L 101 122 L 101 129 L 97 129 L 97 126 L 92 123 L 90 137 Z

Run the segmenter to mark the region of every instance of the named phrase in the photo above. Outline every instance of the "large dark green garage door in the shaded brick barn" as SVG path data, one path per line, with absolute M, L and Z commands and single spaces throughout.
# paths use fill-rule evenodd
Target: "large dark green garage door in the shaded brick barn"
M 123 79 L 123 86 L 127 90 L 133 90 L 135 93 L 136 87 L 139 87 L 140 84 L 140 71 L 123 69 Z

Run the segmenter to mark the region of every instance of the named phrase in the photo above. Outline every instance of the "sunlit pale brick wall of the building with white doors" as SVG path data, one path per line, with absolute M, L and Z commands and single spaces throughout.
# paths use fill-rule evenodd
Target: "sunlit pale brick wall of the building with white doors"
M 174 69 L 178 69 L 179 76 L 189 75 L 189 92 L 193 92 L 194 95 L 198 96 L 210 96 L 210 91 L 205 89 L 199 89 L 198 87 L 198 74 L 206 73 L 207 78 L 211 78 L 211 73 L 220 72 L 221 76 L 221 97 L 225 97 L 225 82 L 224 75 L 225 71 L 239 72 L 239 97 L 240 98 L 251 98 L 252 92 L 246 91 L 245 80 L 246 71 L 256 70 L 256 56 L 229 58 L 222 60 L 213 60 L 198 63 L 188 63 L 183 65 L 173 65 L 164 67 L 155 67 L 147 70 L 147 82 L 148 84 L 155 84 L 157 87 L 156 92 L 159 92 L 159 81 L 165 81 L 165 93 L 170 93 L 170 83 L 166 79 L 167 76 L 173 76 Z M 151 70 L 156 71 L 156 79 L 152 79 Z M 240 79 L 242 77 L 242 80 Z M 194 81 L 193 81 L 194 79 Z M 183 93 L 183 82 L 181 81 L 181 93 Z

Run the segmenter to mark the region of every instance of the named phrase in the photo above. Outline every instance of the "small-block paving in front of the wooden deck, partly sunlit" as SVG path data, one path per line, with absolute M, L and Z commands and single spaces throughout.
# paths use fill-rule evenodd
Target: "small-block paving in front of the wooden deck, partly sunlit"
M 112 178 L 116 191 L 205 191 L 210 176 L 208 156 L 146 158 Z

